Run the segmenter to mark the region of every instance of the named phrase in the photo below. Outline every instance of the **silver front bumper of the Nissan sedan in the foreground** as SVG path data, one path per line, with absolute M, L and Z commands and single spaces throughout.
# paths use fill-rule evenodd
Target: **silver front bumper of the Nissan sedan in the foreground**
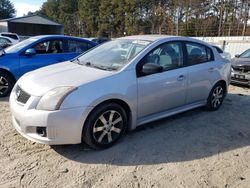
M 58 111 L 36 110 L 38 97 L 31 96 L 25 105 L 10 96 L 12 122 L 16 130 L 27 139 L 49 145 L 78 144 L 82 140 L 82 128 L 91 111 L 90 107 L 78 107 Z M 37 127 L 46 129 L 46 136 L 37 133 Z

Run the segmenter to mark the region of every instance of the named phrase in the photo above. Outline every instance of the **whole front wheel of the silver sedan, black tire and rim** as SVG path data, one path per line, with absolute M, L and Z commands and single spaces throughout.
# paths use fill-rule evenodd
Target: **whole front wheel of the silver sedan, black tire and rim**
M 93 149 L 105 149 L 115 144 L 127 129 L 128 117 L 116 103 L 98 106 L 87 118 L 82 140 Z

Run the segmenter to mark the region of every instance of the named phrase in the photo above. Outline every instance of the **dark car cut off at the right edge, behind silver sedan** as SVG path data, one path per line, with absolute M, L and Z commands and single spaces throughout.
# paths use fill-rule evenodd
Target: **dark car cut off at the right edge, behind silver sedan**
M 231 82 L 250 86 L 250 49 L 232 59 Z

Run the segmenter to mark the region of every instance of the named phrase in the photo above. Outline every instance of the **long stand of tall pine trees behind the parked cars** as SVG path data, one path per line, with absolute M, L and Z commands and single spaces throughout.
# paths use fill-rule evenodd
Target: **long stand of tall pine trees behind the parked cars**
M 250 0 L 47 0 L 36 13 L 76 36 L 232 36 L 250 33 Z

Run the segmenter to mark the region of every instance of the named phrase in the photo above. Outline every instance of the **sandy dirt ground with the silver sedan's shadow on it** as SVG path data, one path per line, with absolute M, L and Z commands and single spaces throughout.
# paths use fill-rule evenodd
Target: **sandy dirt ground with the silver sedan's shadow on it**
M 0 187 L 250 187 L 250 89 L 128 133 L 117 145 L 46 146 L 20 136 L 0 101 Z

